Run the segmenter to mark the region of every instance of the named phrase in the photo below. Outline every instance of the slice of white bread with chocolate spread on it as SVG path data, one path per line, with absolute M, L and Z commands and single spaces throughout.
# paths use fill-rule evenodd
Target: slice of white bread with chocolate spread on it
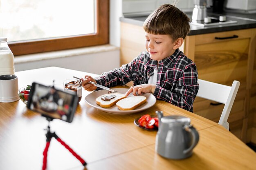
M 101 99 L 103 96 L 110 96 L 110 95 L 115 95 L 115 98 L 112 98 L 110 101 L 103 101 Z M 100 105 L 101 107 L 108 108 L 108 107 L 112 107 L 113 105 L 115 105 L 117 103 L 117 101 L 119 101 L 123 98 L 126 98 L 126 95 L 121 94 L 121 93 L 103 94 L 96 98 L 96 103 L 98 105 Z

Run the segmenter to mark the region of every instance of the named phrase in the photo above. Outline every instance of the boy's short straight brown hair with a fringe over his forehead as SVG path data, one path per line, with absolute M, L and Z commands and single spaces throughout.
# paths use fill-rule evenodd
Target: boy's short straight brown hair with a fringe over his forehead
M 170 35 L 171 38 L 185 39 L 189 33 L 190 19 L 185 13 L 171 4 L 164 4 L 145 20 L 143 28 L 149 34 Z

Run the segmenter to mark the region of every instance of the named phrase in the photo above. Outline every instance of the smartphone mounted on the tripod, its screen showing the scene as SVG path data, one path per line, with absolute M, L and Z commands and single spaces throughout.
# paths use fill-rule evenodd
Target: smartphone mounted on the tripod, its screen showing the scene
M 51 86 L 32 83 L 27 108 L 50 119 L 71 123 L 76 112 L 78 97 Z

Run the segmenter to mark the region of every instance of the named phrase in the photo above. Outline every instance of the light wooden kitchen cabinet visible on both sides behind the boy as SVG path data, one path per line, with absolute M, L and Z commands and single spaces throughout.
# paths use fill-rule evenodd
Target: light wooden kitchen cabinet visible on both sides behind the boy
M 229 38 L 227 38 L 229 37 Z M 121 65 L 145 51 L 144 29 L 121 22 Z M 229 115 L 230 131 L 256 143 L 256 28 L 187 36 L 180 50 L 193 60 L 202 80 L 232 85 L 240 81 Z M 224 105 L 197 97 L 194 113 L 218 122 Z M 253 135 L 254 134 L 254 135 Z M 255 138 L 255 139 L 254 139 Z

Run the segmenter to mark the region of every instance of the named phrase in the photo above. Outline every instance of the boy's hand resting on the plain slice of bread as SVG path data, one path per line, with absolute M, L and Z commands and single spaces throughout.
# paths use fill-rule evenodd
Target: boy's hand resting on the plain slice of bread
M 134 96 L 137 96 L 136 92 L 141 95 L 142 93 L 154 93 L 156 85 L 153 84 L 143 84 L 131 86 L 130 89 L 126 92 L 126 96 L 132 93 Z

